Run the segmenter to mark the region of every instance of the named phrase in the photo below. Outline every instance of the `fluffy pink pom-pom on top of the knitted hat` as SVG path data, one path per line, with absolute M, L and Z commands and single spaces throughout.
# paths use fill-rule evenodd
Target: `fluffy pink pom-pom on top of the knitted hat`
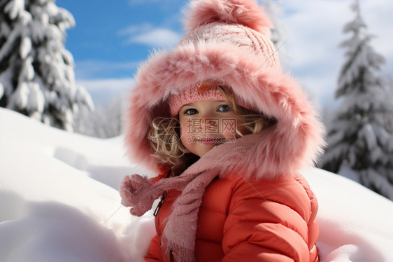
M 193 30 L 211 22 L 227 22 L 270 35 L 271 20 L 255 0 L 200 0 L 192 1 L 189 6 L 186 29 Z

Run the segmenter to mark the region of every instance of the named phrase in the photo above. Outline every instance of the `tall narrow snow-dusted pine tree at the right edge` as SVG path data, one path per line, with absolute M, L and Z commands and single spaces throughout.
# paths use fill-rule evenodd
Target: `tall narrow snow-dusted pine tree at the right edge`
M 346 61 L 335 94 L 342 102 L 328 125 L 329 148 L 322 167 L 393 200 L 391 91 L 379 74 L 384 59 L 370 46 L 371 36 L 365 32 L 358 0 L 352 10 L 355 20 L 343 29 L 352 37 L 341 43 Z

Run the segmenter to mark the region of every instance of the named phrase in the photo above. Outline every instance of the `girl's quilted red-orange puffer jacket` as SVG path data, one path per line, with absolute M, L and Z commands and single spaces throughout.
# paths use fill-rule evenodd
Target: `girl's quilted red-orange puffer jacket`
M 203 195 L 197 261 L 318 261 L 317 199 L 301 174 L 273 181 L 229 177 L 215 179 Z M 178 195 L 169 191 L 159 209 L 146 261 L 169 261 L 159 243 Z

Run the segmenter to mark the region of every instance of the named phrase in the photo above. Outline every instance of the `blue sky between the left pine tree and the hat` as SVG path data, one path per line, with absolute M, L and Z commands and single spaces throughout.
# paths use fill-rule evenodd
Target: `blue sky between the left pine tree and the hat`
M 76 61 L 78 79 L 132 77 L 149 50 L 157 44 L 175 44 L 182 32 L 178 21 L 183 1 L 57 0 L 56 4 L 76 20 L 76 27 L 67 31 L 66 48 Z M 150 30 L 173 37 L 162 43 L 157 38 L 157 43 L 143 41 L 142 34 Z

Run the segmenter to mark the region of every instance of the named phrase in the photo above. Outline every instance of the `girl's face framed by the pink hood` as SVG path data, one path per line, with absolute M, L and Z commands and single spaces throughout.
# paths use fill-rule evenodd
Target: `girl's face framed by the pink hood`
M 214 146 L 233 143 L 236 127 L 243 121 L 236 117 L 226 101 L 202 100 L 185 104 L 179 111 L 180 139 L 185 148 L 201 157 Z

